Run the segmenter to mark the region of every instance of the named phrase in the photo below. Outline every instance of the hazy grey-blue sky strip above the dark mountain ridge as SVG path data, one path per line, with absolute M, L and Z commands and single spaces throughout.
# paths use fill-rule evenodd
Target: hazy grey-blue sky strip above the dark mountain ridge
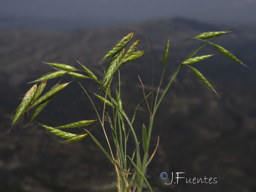
M 46 19 L 53 27 L 84 28 L 183 17 L 256 26 L 255 10 L 256 0 L 1 0 L 0 25 L 34 26 Z

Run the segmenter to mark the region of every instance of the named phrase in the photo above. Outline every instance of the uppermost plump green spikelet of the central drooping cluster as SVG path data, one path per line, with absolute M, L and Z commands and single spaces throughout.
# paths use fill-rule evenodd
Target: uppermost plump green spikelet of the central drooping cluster
M 119 51 L 121 51 L 133 38 L 134 36 L 134 32 L 128 34 L 127 36 L 123 37 L 117 44 L 115 47 L 113 47 L 103 58 L 101 61 L 108 59 L 110 57 L 112 57 L 113 55 L 115 55 L 116 53 L 118 53 Z

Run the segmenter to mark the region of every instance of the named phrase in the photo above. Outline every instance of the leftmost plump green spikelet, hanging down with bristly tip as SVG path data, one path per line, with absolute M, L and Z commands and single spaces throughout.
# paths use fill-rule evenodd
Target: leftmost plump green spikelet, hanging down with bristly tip
M 28 92 L 25 94 L 24 98 L 22 99 L 15 116 L 13 117 L 12 124 L 15 124 L 20 117 L 27 111 L 31 101 L 33 100 L 35 94 L 36 94 L 36 87 L 37 85 L 33 85 Z

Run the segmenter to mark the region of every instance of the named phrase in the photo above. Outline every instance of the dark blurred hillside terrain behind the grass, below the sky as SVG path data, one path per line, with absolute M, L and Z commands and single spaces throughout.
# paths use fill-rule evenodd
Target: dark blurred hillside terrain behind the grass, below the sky
M 102 56 L 123 36 L 136 29 L 145 30 L 152 39 L 154 49 L 155 86 L 162 69 L 166 41 L 171 33 L 170 53 L 183 40 L 207 31 L 227 30 L 233 26 L 213 25 L 193 20 L 162 19 L 111 28 L 73 31 L 49 31 L 28 28 L 2 30 L 0 33 L 0 191 L 82 192 L 116 191 L 115 172 L 104 153 L 87 137 L 81 142 L 61 144 L 56 137 L 36 123 L 23 127 L 18 124 L 6 133 L 12 112 L 20 103 L 19 97 L 31 87 L 26 84 L 53 71 L 39 61 L 58 62 L 79 68 L 82 62 L 97 76 L 102 77 L 107 62 L 99 65 Z M 154 191 L 242 191 L 256 190 L 256 89 L 255 40 L 256 29 L 236 27 L 234 32 L 215 41 L 225 47 L 251 69 L 228 60 L 208 45 L 196 56 L 218 53 L 193 67 L 204 74 L 215 90 L 203 84 L 189 68 L 181 68 L 171 89 L 158 110 L 151 148 L 159 146 L 148 167 L 148 180 Z M 136 32 L 134 41 L 145 33 Z M 172 60 L 183 60 L 202 44 L 189 40 L 174 53 Z M 142 37 L 138 50 L 149 50 L 147 36 Z M 178 65 L 169 62 L 168 69 Z M 123 108 L 131 117 L 143 99 L 140 76 L 145 91 L 150 92 L 150 50 L 138 61 L 121 68 Z M 166 77 L 169 79 L 170 76 Z M 65 77 L 62 82 L 68 82 Z M 47 88 L 59 79 L 48 81 Z M 52 83 L 50 83 L 52 82 Z M 98 92 L 97 84 L 81 80 L 86 89 Z M 162 90 L 163 91 L 163 90 Z M 92 94 L 91 94 L 92 95 Z M 93 96 L 92 96 L 93 97 Z M 97 101 L 94 99 L 94 101 Z M 101 103 L 97 104 L 101 107 Z M 92 105 L 75 82 L 58 93 L 37 122 L 59 126 L 80 120 L 97 118 Z M 148 127 L 148 112 L 142 105 L 136 116 L 135 127 L 141 132 Z M 71 130 L 70 130 L 71 131 Z M 74 132 L 81 132 L 76 129 Z M 106 145 L 100 126 L 92 134 Z M 132 138 L 132 135 L 131 135 Z M 134 145 L 129 145 L 131 152 Z M 187 178 L 216 177 L 217 184 L 165 185 L 161 172 L 186 172 Z

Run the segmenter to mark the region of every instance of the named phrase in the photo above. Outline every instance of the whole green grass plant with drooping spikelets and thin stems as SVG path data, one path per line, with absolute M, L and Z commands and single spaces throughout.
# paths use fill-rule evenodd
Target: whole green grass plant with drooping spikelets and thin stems
M 83 70 L 76 69 L 75 67 L 66 65 L 66 64 L 45 63 L 55 68 L 56 71 L 45 74 L 42 77 L 36 79 L 35 81 L 30 82 L 35 84 L 28 90 L 23 100 L 21 101 L 20 106 L 17 108 L 16 114 L 12 120 L 11 127 L 17 124 L 19 119 L 21 119 L 25 114 L 30 114 L 30 112 L 32 111 L 31 110 L 32 108 L 34 108 L 35 110 L 33 110 L 31 116 L 29 117 L 31 121 L 34 120 L 36 116 L 38 116 L 38 114 L 50 102 L 50 100 L 56 93 L 60 92 L 62 89 L 64 89 L 71 83 L 72 84 L 78 83 L 83 89 L 83 91 L 86 93 L 86 95 L 88 96 L 89 100 L 91 101 L 98 119 L 95 119 L 95 120 L 86 119 L 86 120 L 81 120 L 78 122 L 74 122 L 74 123 L 70 123 L 70 124 L 66 124 L 58 127 L 50 127 L 44 124 L 39 124 L 39 125 L 41 125 L 43 128 L 45 128 L 52 134 L 56 135 L 57 137 L 60 137 L 61 139 L 66 139 L 64 141 L 61 141 L 63 143 L 77 142 L 85 139 L 86 136 L 89 135 L 92 138 L 92 140 L 95 142 L 95 144 L 105 153 L 105 155 L 113 164 L 113 169 L 115 169 L 116 171 L 116 178 L 117 178 L 116 187 L 118 192 L 132 192 L 132 191 L 141 192 L 144 182 L 148 185 L 149 190 L 152 191 L 150 184 L 147 180 L 146 169 L 148 164 L 150 163 L 150 161 L 152 160 L 152 158 L 156 153 L 158 141 L 159 141 L 159 137 L 158 137 L 155 150 L 153 152 L 150 152 L 148 149 L 150 145 L 151 133 L 152 133 L 153 123 L 154 123 L 157 109 L 161 104 L 161 101 L 164 95 L 170 88 L 170 85 L 172 84 L 173 79 L 177 76 L 180 68 L 183 66 L 189 67 L 191 71 L 204 84 L 206 84 L 210 89 L 212 89 L 212 91 L 217 93 L 212 87 L 212 85 L 208 82 L 208 80 L 203 76 L 203 74 L 200 73 L 196 68 L 192 67 L 194 63 L 200 62 L 205 59 L 209 59 L 210 57 L 213 56 L 213 54 L 208 54 L 208 55 L 193 57 L 194 54 L 196 54 L 199 50 L 204 48 L 205 45 L 207 44 L 212 45 L 214 48 L 217 49 L 218 52 L 220 52 L 227 58 L 244 65 L 244 63 L 238 60 L 234 55 L 232 55 L 226 49 L 224 49 L 223 47 L 220 47 L 219 45 L 211 43 L 213 40 L 222 36 L 223 34 L 229 33 L 230 30 L 233 28 L 230 28 L 227 31 L 213 31 L 213 32 L 201 33 L 195 37 L 186 39 L 185 41 L 191 40 L 191 39 L 203 41 L 204 44 L 198 47 L 190 55 L 188 55 L 183 61 L 176 62 L 178 64 L 175 68 L 172 69 L 172 71 L 166 72 L 166 67 L 170 63 L 169 60 L 171 58 L 171 57 L 168 58 L 169 47 L 170 47 L 170 37 L 169 37 L 169 39 L 167 40 L 167 44 L 165 45 L 163 62 L 162 64 L 157 65 L 157 67 L 159 66 L 160 68 L 162 67 L 162 75 L 161 75 L 161 78 L 159 79 L 159 85 L 156 89 L 157 91 L 153 92 L 153 83 L 152 83 L 152 92 L 146 93 L 144 90 L 144 85 L 139 77 L 139 81 L 143 88 L 144 98 L 138 104 L 137 108 L 134 110 L 134 114 L 132 118 L 128 118 L 128 116 L 125 113 L 125 109 L 123 108 L 123 105 L 122 105 L 122 92 L 121 92 L 121 83 L 120 83 L 121 75 L 120 75 L 119 68 L 122 67 L 124 63 L 138 60 L 147 52 L 147 51 L 136 50 L 138 45 L 140 44 L 141 39 L 134 41 L 132 45 L 126 50 L 126 46 L 128 45 L 129 42 L 132 41 L 134 34 L 138 30 L 128 34 L 127 36 L 124 36 L 108 53 L 106 53 L 103 56 L 100 63 L 103 63 L 104 61 L 109 59 L 108 67 L 104 72 L 103 78 L 99 78 L 95 76 L 87 67 L 85 67 L 79 61 L 77 62 L 81 65 Z M 185 41 L 183 41 L 182 43 L 185 43 Z M 151 47 L 152 47 L 152 44 L 151 44 Z M 152 59 L 152 71 L 154 72 L 153 59 Z M 116 77 L 114 76 L 115 74 L 117 74 Z M 74 81 L 63 83 L 63 84 L 60 84 L 59 82 L 55 86 L 53 86 L 52 89 L 50 89 L 48 92 L 43 94 L 44 87 L 47 84 L 48 80 L 58 78 L 64 75 L 72 76 L 74 78 Z M 169 78 L 170 79 L 169 82 L 164 87 L 164 91 L 160 93 L 159 92 L 160 87 L 162 88 L 163 81 L 167 79 L 164 77 L 167 75 L 171 76 L 171 78 Z M 153 77 L 154 75 L 152 75 L 152 82 L 153 82 Z M 100 92 L 94 93 L 94 95 L 96 96 L 96 98 L 99 99 L 99 102 L 102 103 L 103 114 L 100 114 L 98 112 L 87 90 L 78 81 L 79 78 L 82 78 L 85 81 L 89 81 L 90 79 L 92 79 L 93 81 L 98 83 Z M 112 85 L 113 78 L 118 78 L 118 85 L 116 87 Z M 38 82 L 41 82 L 41 83 L 37 86 Z M 148 98 L 151 98 L 151 101 L 149 101 Z M 147 110 L 149 111 L 149 126 L 146 127 L 144 125 L 145 122 L 141 122 L 141 127 L 142 127 L 141 129 L 141 127 L 134 127 L 133 122 L 136 116 L 136 111 L 142 102 L 146 103 L 148 108 Z M 93 125 L 93 128 L 89 129 L 85 127 L 91 124 Z M 109 124 L 109 127 L 112 132 L 111 135 L 106 133 L 106 130 L 105 130 L 106 124 Z M 93 133 L 93 129 L 99 126 L 102 128 L 103 134 L 105 136 L 107 146 L 108 146 L 107 148 L 102 147 L 102 145 L 95 138 L 95 135 Z M 76 128 L 76 127 L 84 127 L 83 132 L 81 134 L 73 134 L 70 132 L 64 132 L 60 130 L 65 128 Z M 141 133 L 142 133 L 142 138 L 139 138 L 138 135 L 141 135 Z M 113 137 L 113 143 L 109 142 L 109 137 Z M 130 139 L 135 142 L 135 148 L 132 149 L 133 153 L 128 153 L 128 151 L 131 151 L 131 150 L 128 150 L 129 146 L 127 145 L 127 142 Z M 131 171 L 131 170 L 135 170 L 135 171 Z

